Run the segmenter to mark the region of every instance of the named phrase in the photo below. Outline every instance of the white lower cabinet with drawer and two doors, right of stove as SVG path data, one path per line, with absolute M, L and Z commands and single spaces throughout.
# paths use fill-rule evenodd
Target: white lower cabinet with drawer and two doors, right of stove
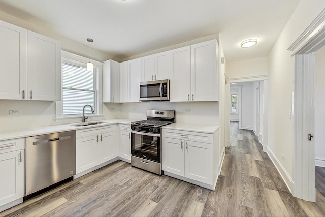
M 165 174 L 214 189 L 217 176 L 213 137 L 214 134 L 163 129 L 161 162 Z

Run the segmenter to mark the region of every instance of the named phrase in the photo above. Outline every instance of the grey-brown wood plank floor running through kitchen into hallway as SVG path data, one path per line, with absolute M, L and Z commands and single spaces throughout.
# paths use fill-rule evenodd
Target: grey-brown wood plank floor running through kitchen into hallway
M 215 191 L 117 161 L 0 216 L 325 216 L 324 178 L 316 203 L 294 198 L 253 132 L 231 135 Z

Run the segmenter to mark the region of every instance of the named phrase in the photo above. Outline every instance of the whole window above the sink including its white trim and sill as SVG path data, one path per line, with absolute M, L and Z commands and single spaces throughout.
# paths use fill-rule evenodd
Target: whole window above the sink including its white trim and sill
M 91 60 L 93 71 L 88 71 L 89 58 L 62 51 L 62 100 L 56 102 L 56 122 L 81 121 L 83 107 L 89 120 L 99 120 L 102 115 L 103 63 Z M 77 120 L 72 120 L 77 119 Z

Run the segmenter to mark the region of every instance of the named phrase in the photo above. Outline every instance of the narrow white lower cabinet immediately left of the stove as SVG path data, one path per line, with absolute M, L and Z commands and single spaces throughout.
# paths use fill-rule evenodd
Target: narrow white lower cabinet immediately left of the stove
M 119 125 L 119 157 L 131 161 L 131 127 L 130 125 Z

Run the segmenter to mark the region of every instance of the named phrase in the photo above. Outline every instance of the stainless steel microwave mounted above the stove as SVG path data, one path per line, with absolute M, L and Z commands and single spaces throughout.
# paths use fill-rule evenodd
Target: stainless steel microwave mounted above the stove
M 169 101 L 169 80 L 140 83 L 141 101 Z

